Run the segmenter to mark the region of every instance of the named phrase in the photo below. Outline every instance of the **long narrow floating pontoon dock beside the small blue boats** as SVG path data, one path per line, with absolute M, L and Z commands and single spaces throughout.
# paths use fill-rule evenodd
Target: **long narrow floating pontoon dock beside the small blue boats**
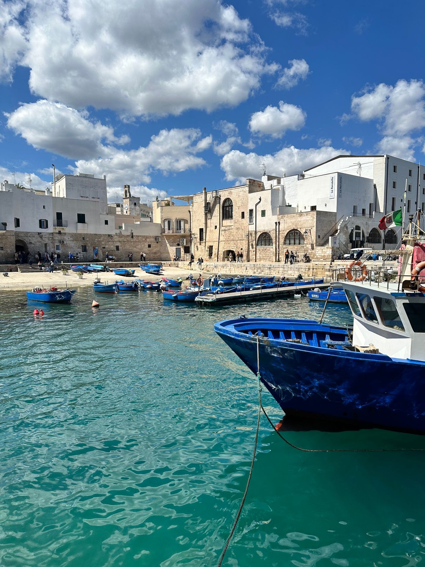
M 309 289 L 327 289 L 327 284 L 297 284 L 297 285 L 283 285 L 282 287 L 271 287 L 269 289 L 253 289 L 248 291 L 232 291 L 229 293 L 214 293 L 214 291 L 205 292 L 205 294 L 198 295 L 195 301 L 198 305 L 218 305 L 222 303 L 239 303 L 248 301 L 265 301 L 266 299 L 273 299 L 276 297 L 284 297 L 285 295 L 292 295 L 299 291 L 308 291 Z

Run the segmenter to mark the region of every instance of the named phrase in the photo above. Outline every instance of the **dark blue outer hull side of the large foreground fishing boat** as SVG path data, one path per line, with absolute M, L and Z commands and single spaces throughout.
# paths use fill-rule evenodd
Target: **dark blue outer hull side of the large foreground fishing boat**
M 224 321 L 228 323 L 228 321 Z M 215 331 L 253 373 L 257 337 Z M 286 414 L 425 431 L 425 363 L 262 337 L 260 375 Z

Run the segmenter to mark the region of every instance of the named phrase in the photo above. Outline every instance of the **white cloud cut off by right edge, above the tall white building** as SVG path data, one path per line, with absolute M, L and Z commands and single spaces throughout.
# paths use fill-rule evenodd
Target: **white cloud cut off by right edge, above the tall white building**
M 383 134 L 377 151 L 414 160 L 418 139 L 411 134 L 425 127 L 425 84 L 400 79 L 394 86 L 381 83 L 366 88 L 352 97 L 351 116 L 362 121 L 376 120 Z

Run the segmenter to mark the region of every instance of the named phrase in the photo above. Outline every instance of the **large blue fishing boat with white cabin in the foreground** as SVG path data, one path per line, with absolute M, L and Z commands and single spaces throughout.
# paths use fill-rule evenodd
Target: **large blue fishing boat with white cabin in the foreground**
M 423 432 L 424 260 L 425 244 L 407 240 L 396 281 L 381 280 L 360 261 L 350 264 L 347 281 L 338 283 L 352 311 L 352 331 L 266 318 L 221 321 L 215 331 L 250 370 L 260 372 L 286 414 Z

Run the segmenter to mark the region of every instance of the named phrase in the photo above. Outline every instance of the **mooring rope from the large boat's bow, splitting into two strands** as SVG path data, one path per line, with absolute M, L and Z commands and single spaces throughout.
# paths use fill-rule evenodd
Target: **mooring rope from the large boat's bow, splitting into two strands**
M 390 449 L 306 449 L 304 447 L 298 447 L 296 445 L 294 445 L 294 443 L 291 443 L 290 441 L 288 441 L 288 439 L 286 439 L 285 437 L 283 437 L 283 435 L 281 435 L 280 431 L 278 431 L 275 428 L 275 425 L 273 424 L 273 422 L 270 420 L 270 417 L 267 415 L 266 410 L 263 407 L 262 404 L 262 400 L 261 400 L 261 391 L 262 391 L 262 386 L 261 386 L 261 375 L 260 375 L 260 337 L 257 334 L 257 387 L 258 387 L 258 418 L 257 418 L 257 430 L 256 430 L 256 437 L 255 437 L 255 441 L 254 441 L 254 451 L 253 451 L 253 455 L 252 455 L 252 460 L 251 460 L 251 466 L 249 469 L 249 475 L 248 475 L 248 480 L 247 480 L 247 486 L 245 486 L 245 492 L 244 492 L 244 496 L 242 497 L 240 506 L 239 506 L 239 510 L 237 510 L 237 514 L 235 517 L 235 521 L 233 521 L 233 526 L 232 529 L 230 531 L 230 534 L 227 538 L 226 544 L 224 545 L 224 549 L 222 552 L 222 555 L 220 556 L 220 560 L 218 562 L 217 567 L 221 567 L 222 563 L 223 563 L 223 559 L 224 556 L 226 555 L 226 551 L 227 548 L 229 547 L 229 544 L 231 542 L 231 539 L 233 537 L 233 534 L 235 533 L 236 530 L 236 526 L 237 526 L 237 522 L 239 521 L 242 509 L 244 507 L 244 503 L 245 503 L 245 499 L 247 498 L 247 493 L 248 493 L 248 488 L 249 488 L 249 483 L 252 477 L 252 471 L 254 468 L 254 460 L 256 458 L 256 452 L 257 452 L 257 442 L 258 442 L 258 431 L 260 430 L 260 417 L 261 417 L 261 412 L 264 413 L 264 415 L 267 418 L 267 421 L 269 422 L 269 424 L 272 426 L 272 428 L 276 431 L 276 433 L 279 435 L 279 437 L 281 439 L 283 439 L 283 441 L 285 443 L 287 443 L 287 445 L 289 445 L 290 447 L 296 449 L 297 451 L 304 451 L 304 452 L 308 452 L 308 453 L 328 453 L 328 452 L 370 452 L 370 453 L 376 453 L 376 452 L 396 452 L 396 451 L 425 451 L 425 448 L 390 448 Z

